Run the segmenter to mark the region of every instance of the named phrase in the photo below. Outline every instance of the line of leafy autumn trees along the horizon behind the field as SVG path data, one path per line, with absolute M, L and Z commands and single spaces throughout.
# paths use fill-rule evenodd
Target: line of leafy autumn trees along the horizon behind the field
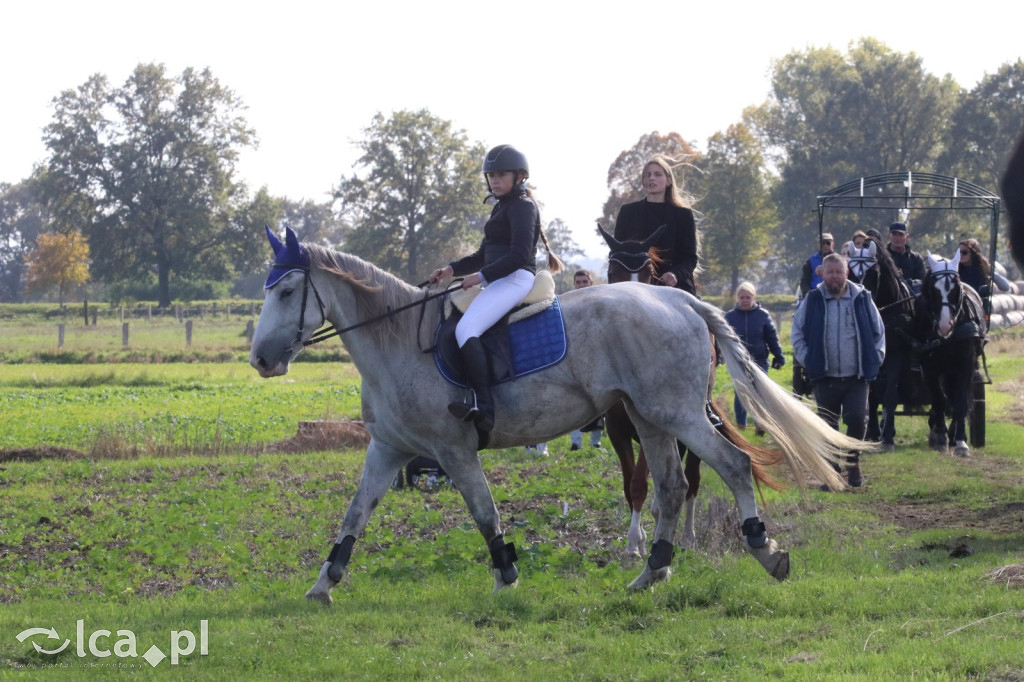
M 846 51 L 791 52 L 773 63 L 771 87 L 702 146 L 685 131 L 641 134 L 610 161 L 595 217 L 610 228 L 618 207 L 643 196 L 644 161 L 667 154 L 700 218 L 703 289 L 731 291 L 751 279 L 792 291 L 816 245 L 817 195 L 893 172 L 994 190 L 1024 122 L 1024 61 L 998 66 L 969 89 L 870 38 Z M 332 199 L 295 202 L 237 178 L 240 153 L 257 144 L 244 109 L 209 70 L 175 76 L 155 63 L 119 86 L 95 75 L 57 95 L 43 133 L 48 157 L 30 177 L 0 183 L 0 301 L 55 291 L 62 302 L 85 282 L 112 302 L 258 296 L 263 224 L 288 223 L 304 241 L 412 283 L 478 244 L 489 212 L 480 202 L 484 145 L 453 122 L 428 110 L 378 114 Z M 853 211 L 828 228 L 842 242 L 896 218 Z M 907 220 L 916 249 L 987 241 L 976 215 Z M 562 220 L 546 229 L 564 260 L 583 255 Z

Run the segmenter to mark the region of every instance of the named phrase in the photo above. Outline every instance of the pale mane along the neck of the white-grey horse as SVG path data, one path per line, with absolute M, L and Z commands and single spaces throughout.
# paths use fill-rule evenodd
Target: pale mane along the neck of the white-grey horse
M 355 306 L 359 319 L 384 317 L 378 326 L 381 341 L 385 337 L 412 337 L 402 333 L 406 315 L 386 316 L 390 310 L 413 302 L 418 293 L 415 287 L 406 284 L 390 272 L 349 253 L 340 253 L 316 244 L 303 244 L 309 254 L 310 267 L 329 272 L 348 284 L 355 293 Z M 419 316 L 419 313 L 416 313 Z

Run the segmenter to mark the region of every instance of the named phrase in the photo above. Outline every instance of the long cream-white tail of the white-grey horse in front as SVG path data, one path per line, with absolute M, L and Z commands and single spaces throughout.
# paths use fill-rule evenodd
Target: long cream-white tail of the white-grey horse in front
M 833 465 L 841 464 L 850 451 L 870 450 L 871 446 L 829 427 L 762 372 L 751 359 L 746 347 L 721 310 L 695 297 L 688 300 L 718 340 L 733 388 L 761 428 L 781 449 L 782 457 L 801 489 L 805 488 L 804 472 L 815 476 L 830 489 L 843 489 L 845 483 Z

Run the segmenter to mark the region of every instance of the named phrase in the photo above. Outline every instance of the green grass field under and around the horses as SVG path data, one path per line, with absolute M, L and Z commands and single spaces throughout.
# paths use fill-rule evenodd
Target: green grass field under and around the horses
M 0 462 L 0 677 L 1024 679 L 1024 588 L 988 578 L 1024 561 L 1024 357 L 1014 340 L 990 348 L 988 442 L 971 459 L 928 451 L 924 418 L 904 418 L 895 453 L 865 456 L 863 488 L 765 492 L 792 553 L 784 583 L 742 552 L 706 469 L 697 547 L 677 552 L 669 583 L 628 594 L 642 564 L 625 555 L 617 461 L 562 437 L 549 458 L 481 456 L 517 589 L 490 595 L 456 489 L 402 489 L 381 501 L 333 608 L 302 595 L 361 453 L 259 445 L 298 420 L 357 417 L 351 365 L 275 380 L 240 361 L 0 365 L 0 452 L 84 454 Z M 731 407 L 724 375 L 718 389 Z M 57 636 L 17 639 L 32 628 Z M 189 635 L 176 664 L 142 658 Z

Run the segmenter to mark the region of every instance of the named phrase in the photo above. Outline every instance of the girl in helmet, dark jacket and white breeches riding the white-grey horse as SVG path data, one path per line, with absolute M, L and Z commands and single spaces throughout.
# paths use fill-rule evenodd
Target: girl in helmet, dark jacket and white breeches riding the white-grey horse
M 526 188 L 529 164 L 522 152 L 500 144 L 483 160 L 483 176 L 488 198 L 498 200 L 483 225 L 483 242 L 470 255 L 454 260 L 430 273 L 430 283 L 465 275 L 462 288 L 483 287 L 456 326 L 456 340 L 462 351 L 472 396 L 467 402 L 452 402 L 458 419 L 473 420 L 481 431 L 495 428 L 495 407 L 490 399 L 490 372 L 480 335 L 504 317 L 529 294 L 537 272 L 537 242 L 548 250 L 548 269 L 557 272 L 562 263 L 551 253 L 541 226 L 541 212 Z

